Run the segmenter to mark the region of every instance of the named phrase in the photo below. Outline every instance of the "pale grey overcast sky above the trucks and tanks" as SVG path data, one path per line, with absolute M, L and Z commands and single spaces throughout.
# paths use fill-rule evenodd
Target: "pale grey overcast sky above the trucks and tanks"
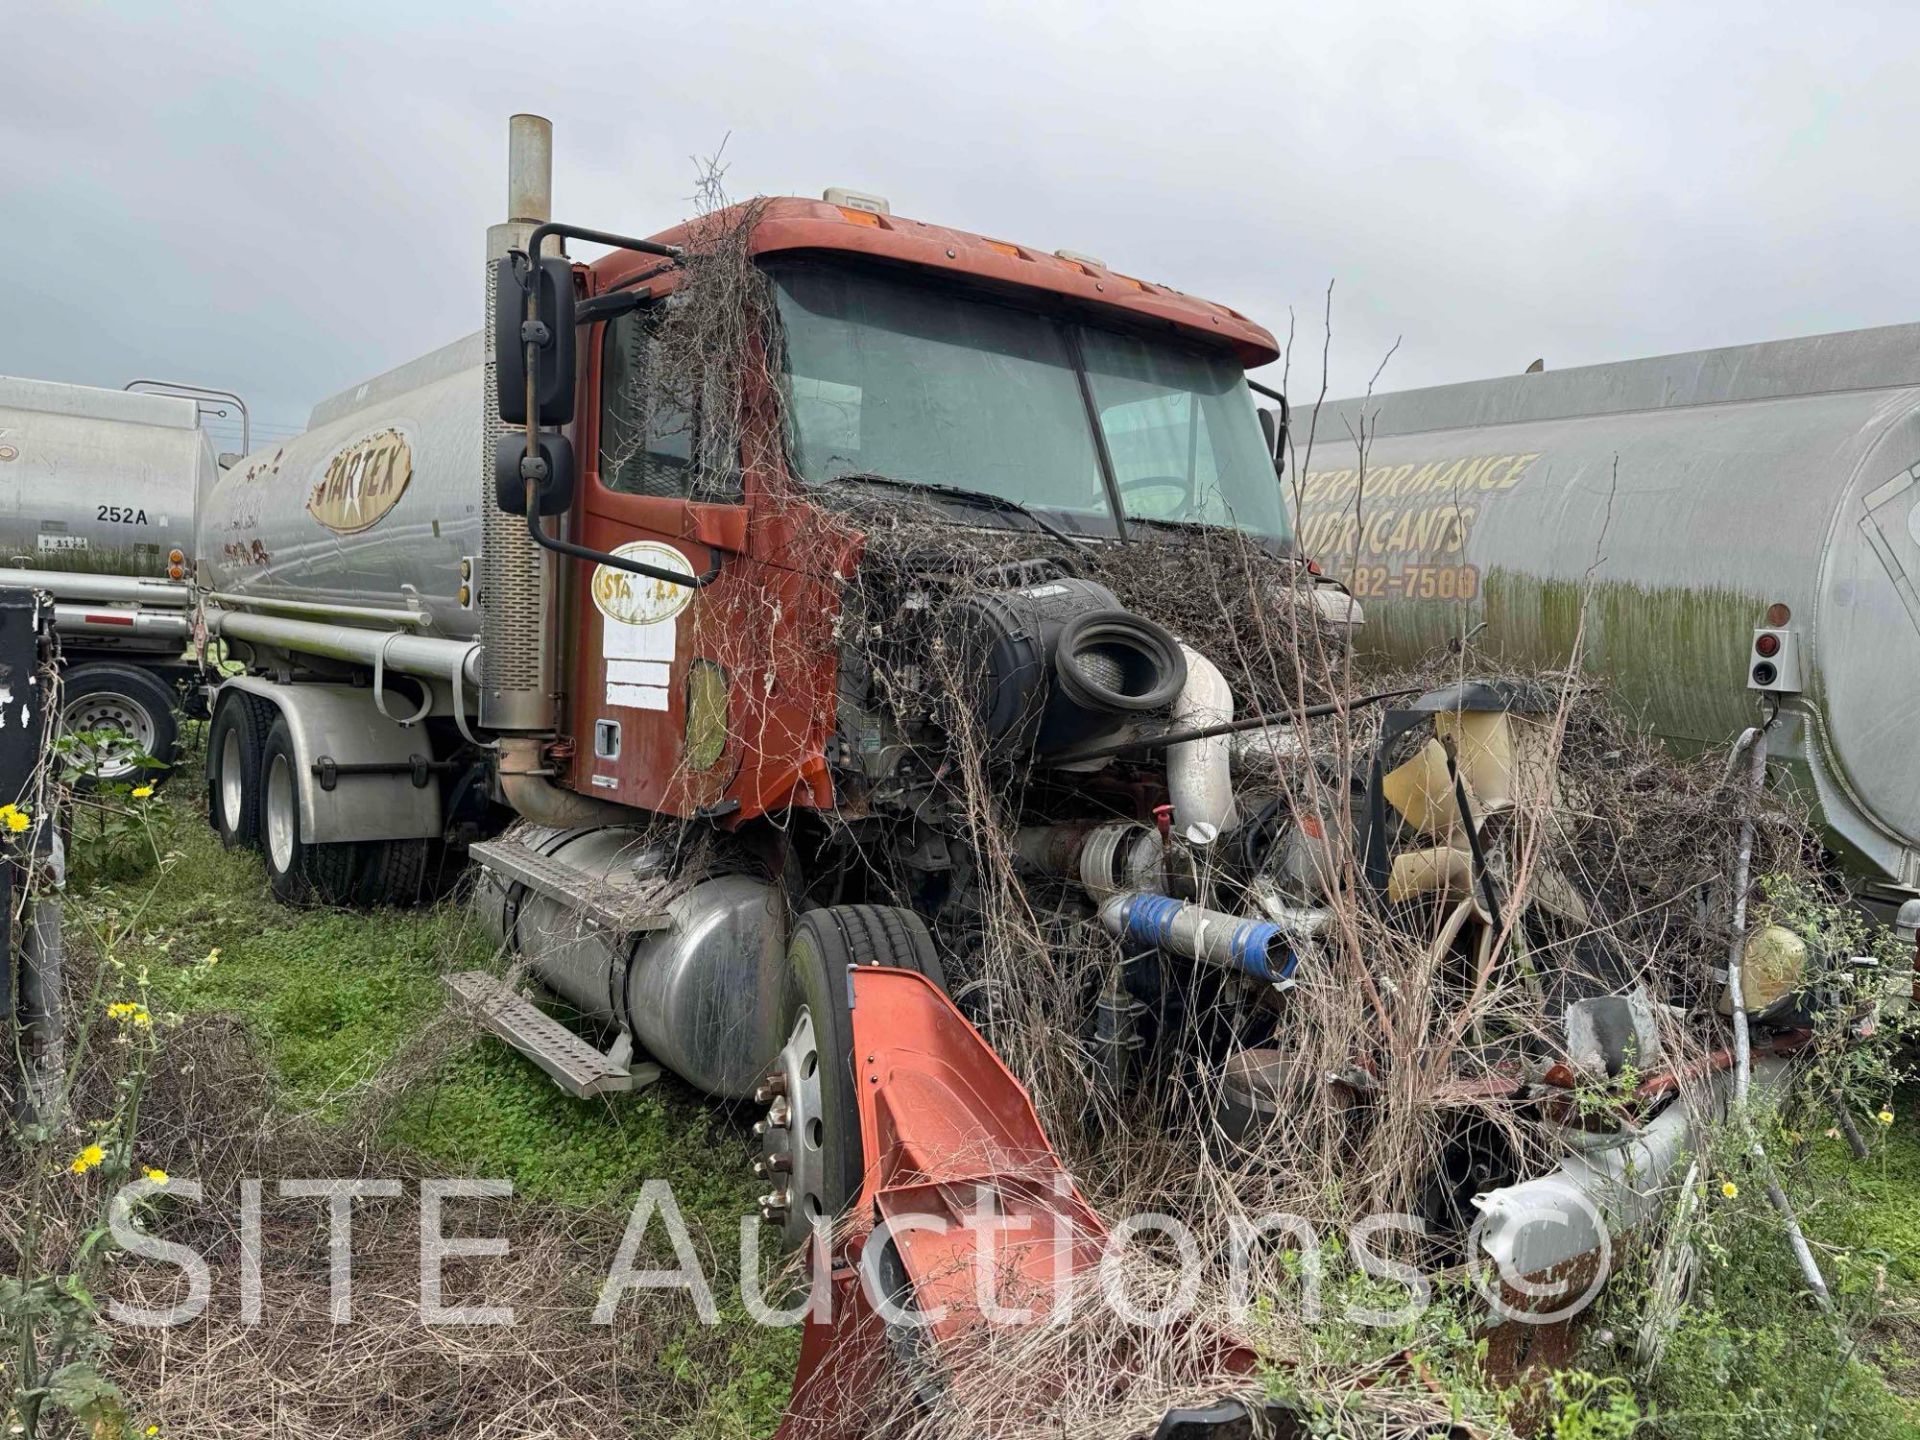
M 1920 319 L 1912 4 L 0 0 L 0 372 L 261 432 L 478 328 L 505 119 L 555 207 L 895 211 L 1225 301 L 1332 392 Z M 536 77 L 538 79 L 530 79 Z M 1306 374 L 1304 374 L 1306 372 Z M 1273 376 L 1269 376 L 1273 378 Z

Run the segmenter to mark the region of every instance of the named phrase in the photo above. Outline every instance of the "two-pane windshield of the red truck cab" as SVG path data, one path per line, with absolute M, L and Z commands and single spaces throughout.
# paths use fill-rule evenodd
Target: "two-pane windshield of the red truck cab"
M 1131 518 L 1290 534 L 1231 357 L 833 265 L 772 275 L 808 484 L 983 490 L 1112 532 L 1104 442 Z

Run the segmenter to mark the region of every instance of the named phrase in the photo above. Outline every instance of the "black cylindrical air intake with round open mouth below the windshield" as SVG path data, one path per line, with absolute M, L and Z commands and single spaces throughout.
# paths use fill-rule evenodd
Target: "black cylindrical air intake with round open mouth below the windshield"
M 956 689 L 1004 758 L 1110 739 L 1165 710 L 1187 684 L 1179 641 L 1092 580 L 979 589 L 948 614 L 962 664 Z

